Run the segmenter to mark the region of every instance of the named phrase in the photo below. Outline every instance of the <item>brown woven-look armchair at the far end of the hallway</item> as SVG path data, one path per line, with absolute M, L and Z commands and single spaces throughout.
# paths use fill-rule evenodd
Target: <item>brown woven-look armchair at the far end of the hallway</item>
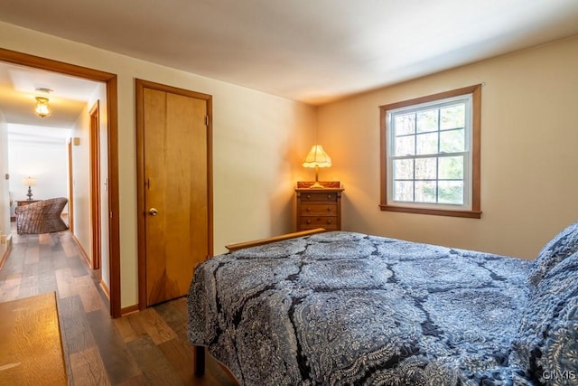
M 68 199 L 51 198 L 16 208 L 18 234 L 39 234 L 66 231 L 69 227 L 61 219 L 61 212 Z

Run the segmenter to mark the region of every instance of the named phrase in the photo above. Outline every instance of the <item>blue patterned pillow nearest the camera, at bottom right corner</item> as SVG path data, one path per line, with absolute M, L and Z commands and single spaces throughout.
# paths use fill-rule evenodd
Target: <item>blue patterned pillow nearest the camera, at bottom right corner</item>
M 547 272 L 530 293 L 510 364 L 536 384 L 578 384 L 578 253 Z

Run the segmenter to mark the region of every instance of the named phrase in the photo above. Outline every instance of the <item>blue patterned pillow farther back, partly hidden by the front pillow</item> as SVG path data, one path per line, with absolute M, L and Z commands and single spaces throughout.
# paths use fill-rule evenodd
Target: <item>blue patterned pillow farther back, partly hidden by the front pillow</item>
M 540 250 L 528 274 L 528 286 L 536 287 L 548 271 L 578 251 L 578 222 L 574 222 Z

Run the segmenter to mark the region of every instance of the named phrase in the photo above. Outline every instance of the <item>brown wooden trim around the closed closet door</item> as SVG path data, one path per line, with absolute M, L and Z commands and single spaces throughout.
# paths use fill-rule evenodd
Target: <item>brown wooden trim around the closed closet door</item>
M 155 89 L 185 97 L 203 99 L 207 103 L 207 215 L 209 256 L 213 256 L 213 178 L 212 178 L 212 96 L 189 89 L 155 83 L 149 80 L 135 80 L 136 114 L 136 205 L 138 229 L 138 304 L 139 309 L 146 307 L 146 240 L 144 221 L 144 89 Z

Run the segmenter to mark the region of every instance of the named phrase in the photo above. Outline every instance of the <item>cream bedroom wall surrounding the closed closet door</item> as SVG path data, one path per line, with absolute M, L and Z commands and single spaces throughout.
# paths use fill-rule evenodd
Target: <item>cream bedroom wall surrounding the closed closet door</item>
M 213 96 L 214 248 L 293 231 L 294 183 L 315 109 L 252 89 L 0 23 L 0 47 L 118 75 L 121 306 L 137 302 L 135 78 Z

